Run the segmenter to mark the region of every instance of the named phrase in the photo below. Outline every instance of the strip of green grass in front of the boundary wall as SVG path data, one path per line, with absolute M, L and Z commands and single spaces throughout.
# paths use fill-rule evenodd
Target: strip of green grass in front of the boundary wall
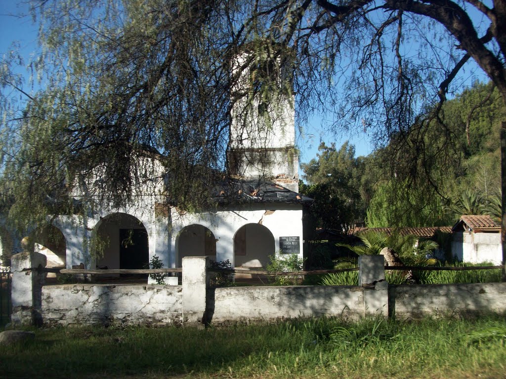
M 506 362 L 506 319 L 494 315 L 35 333 L 0 347 L 2 377 L 495 378 Z

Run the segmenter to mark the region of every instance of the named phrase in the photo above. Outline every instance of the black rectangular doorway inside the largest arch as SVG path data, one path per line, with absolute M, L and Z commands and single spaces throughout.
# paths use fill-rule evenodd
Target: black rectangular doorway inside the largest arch
M 148 268 L 148 233 L 145 229 L 119 229 L 119 268 Z

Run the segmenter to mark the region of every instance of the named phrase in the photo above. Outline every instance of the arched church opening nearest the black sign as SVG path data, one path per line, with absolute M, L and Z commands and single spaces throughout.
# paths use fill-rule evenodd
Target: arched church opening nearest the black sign
M 235 267 L 265 267 L 276 245 L 271 231 L 261 224 L 246 224 L 234 235 Z

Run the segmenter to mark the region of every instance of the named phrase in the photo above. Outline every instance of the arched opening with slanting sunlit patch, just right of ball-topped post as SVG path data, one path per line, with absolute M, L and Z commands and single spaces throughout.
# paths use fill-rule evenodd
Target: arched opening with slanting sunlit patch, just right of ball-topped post
M 46 267 L 65 268 L 67 260 L 67 247 L 65 236 L 56 226 L 48 225 L 35 235 L 35 251 L 46 256 Z M 56 277 L 48 273 L 47 277 Z

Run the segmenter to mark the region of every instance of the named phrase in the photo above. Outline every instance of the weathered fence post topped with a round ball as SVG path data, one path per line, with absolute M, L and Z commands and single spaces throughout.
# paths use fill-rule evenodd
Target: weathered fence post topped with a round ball
M 12 270 L 12 315 L 13 325 L 40 325 L 42 318 L 42 286 L 46 273 L 36 269 L 23 271 L 26 268 L 46 267 L 47 258 L 44 254 L 34 251 L 34 245 L 25 237 L 21 241 L 23 251 L 11 258 Z

